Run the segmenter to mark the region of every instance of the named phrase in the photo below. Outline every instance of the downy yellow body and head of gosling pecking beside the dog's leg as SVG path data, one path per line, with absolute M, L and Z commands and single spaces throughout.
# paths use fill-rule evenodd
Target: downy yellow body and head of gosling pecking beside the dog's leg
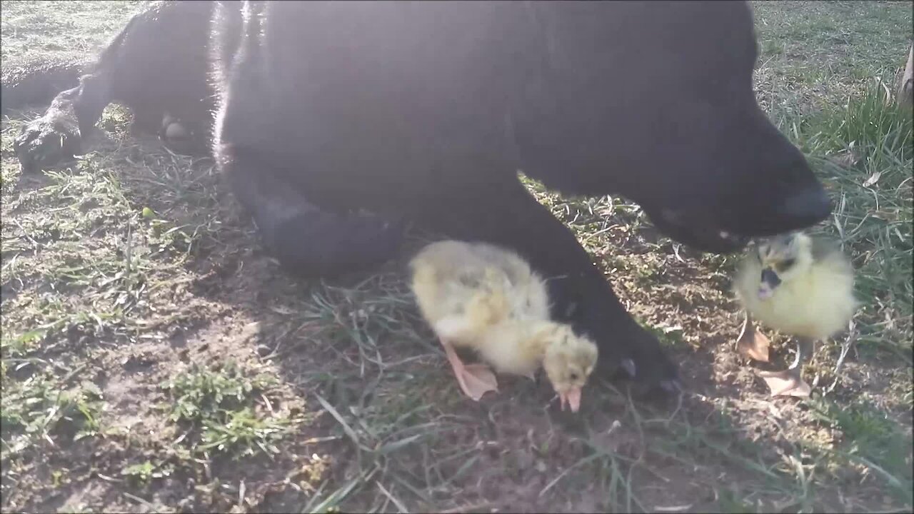
M 514 252 L 439 241 L 410 267 L 420 312 L 442 340 L 473 348 L 499 372 L 532 376 L 543 365 L 558 392 L 587 380 L 596 345 L 549 319 L 545 281 Z

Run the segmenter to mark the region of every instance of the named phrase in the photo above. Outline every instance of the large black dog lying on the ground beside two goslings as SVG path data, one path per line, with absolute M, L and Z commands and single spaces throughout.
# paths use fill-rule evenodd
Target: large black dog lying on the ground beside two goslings
M 604 369 L 633 363 L 648 385 L 670 389 L 675 366 L 515 170 L 567 193 L 632 198 L 707 252 L 830 210 L 755 100 L 742 2 L 187 4 L 135 17 L 101 71 L 61 93 L 91 99 L 74 108 L 80 132 L 118 100 L 154 112 L 141 118 L 206 125 L 198 67 L 208 56 L 213 154 L 287 267 L 334 273 L 387 259 L 396 220 L 505 245 L 555 278 L 555 315 L 599 341 Z M 167 21 L 182 10 L 194 15 Z M 207 27 L 190 21 L 204 17 L 208 49 Z M 143 48 L 148 35 L 167 35 L 167 48 Z M 17 142 L 24 165 L 46 138 L 36 127 Z

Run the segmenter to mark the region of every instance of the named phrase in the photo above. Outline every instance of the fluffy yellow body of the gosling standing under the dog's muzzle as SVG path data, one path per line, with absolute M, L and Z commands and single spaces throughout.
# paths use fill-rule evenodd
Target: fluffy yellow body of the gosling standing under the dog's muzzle
M 825 339 L 847 328 L 856 311 L 854 270 L 845 255 L 809 236 L 794 235 L 789 273 L 768 299 L 759 298 L 763 265 L 758 252 L 749 252 L 734 280 L 734 291 L 749 314 L 768 327 L 793 336 Z M 781 255 L 780 257 L 784 257 Z

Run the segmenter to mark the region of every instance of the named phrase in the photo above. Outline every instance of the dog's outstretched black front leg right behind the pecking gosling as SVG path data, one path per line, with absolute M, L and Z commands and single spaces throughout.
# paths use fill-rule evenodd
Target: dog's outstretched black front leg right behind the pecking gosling
M 480 187 L 472 196 L 452 192 L 429 201 L 414 216 L 420 226 L 513 249 L 549 279 L 553 317 L 597 341 L 602 376 L 622 365 L 648 389 L 675 390 L 676 367 L 658 340 L 625 311 L 574 234 L 522 185 Z

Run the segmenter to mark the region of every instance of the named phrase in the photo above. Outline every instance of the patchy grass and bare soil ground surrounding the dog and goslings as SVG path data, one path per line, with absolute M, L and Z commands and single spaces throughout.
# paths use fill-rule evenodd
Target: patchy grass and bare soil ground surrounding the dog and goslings
M 5 2 L 4 65 L 83 59 L 143 3 Z M 909 511 L 912 123 L 886 102 L 905 3 L 753 4 L 760 103 L 836 209 L 856 345 L 771 400 L 730 344 L 734 257 L 697 255 L 624 198 L 525 183 L 681 364 L 672 405 L 623 385 L 558 412 L 543 383 L 467 402 L 402 262 L 302 282 L 260 250 L 212 162 L 127 135 L 110 107 L 76 163 L 20 175 L 0 141 L 0 497 L 37 511 Z M 420 241 L 413 241 L 420 244 Z M 776 365 L 789 338 L 771 334 Z

